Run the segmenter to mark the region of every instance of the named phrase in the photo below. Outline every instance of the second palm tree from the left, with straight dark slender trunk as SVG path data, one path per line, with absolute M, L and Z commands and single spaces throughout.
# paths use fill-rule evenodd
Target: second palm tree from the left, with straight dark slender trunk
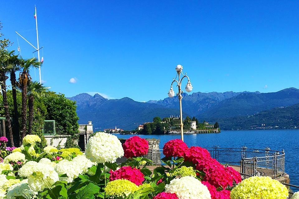
M 13 138 L 15 142 L 15 146 L 20 146 L 20 124 L 19 124 L 19 112 L 18 112 L 18 105 L 17 105 L 17 85 L 16 85 L 16 72 L 21 69 L 19 59 L 16 60 L 14 64 L 9 69 L 10 74 L 10 82 L 12 84 L 12 100 L 13 100 L 13 113 L 14 113 L 14 131 L 13 131 Z

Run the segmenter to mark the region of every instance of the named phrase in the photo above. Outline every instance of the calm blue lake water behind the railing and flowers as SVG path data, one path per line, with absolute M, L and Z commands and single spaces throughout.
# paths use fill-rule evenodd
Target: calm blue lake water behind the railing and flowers
M 129 138 L 134 135 L 120 135 L 119 138 Z M 160 149 L 164 143 L 172 139 L 181 139 L 176 135 L 139 135 L 142 138 L 155 138 L 160 140 Z M 221 131 L 210 134 L 184 134 L 184 141 L 191 146 L 232 147 L 241 148 L 246 146 L 252 149 L 265 149 L 267 146 L 272 150 L 284 149 L 285 172 L 290 175 L 291 184 L 299 185 L 299 130 L 250 130 L 250 131 Z

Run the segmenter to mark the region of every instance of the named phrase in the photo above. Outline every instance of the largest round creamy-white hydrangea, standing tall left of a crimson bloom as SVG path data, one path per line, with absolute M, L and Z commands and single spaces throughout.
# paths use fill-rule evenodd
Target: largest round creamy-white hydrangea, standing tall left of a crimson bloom
M 115 162 L 124 155 L 121 142 L 114 135 L 97 132 L 89 138 L 86 144 L 85 155 L 88 159 L 97 163 Z

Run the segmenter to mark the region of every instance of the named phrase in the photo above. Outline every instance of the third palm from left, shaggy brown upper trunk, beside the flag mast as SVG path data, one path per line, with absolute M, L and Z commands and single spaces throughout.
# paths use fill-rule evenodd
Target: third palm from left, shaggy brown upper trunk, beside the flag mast
M 20 72 L 19 75 L 19 84 L 20 88 L 22 90 L 22 111 L 21 111 L 21 118 L 22 118 L 22 123 L 21 123 L 21 140 L 26 136 L 26 108 L 27 108 L 27 85 L 28 82 L 30 81 L 30 75 L 29 75 L 29 70 L 31 67 L 37 68 L 41 65 L 40 62 L 37 61 L 37 58 L 30 58 L 27 60 L 20 59 L 20 66 L 21 69 L 23 70 Z

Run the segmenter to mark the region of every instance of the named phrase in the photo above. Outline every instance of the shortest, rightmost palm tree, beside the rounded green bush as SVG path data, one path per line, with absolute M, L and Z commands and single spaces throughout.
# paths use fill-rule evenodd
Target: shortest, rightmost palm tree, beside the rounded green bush
M 33 121 L 33 101 L 35 98 L 44 98 L 49 96 L 49 88 L 37 81 L 30 81 L 28 85 L 28 134 L 32 133 L 32 121 Z

